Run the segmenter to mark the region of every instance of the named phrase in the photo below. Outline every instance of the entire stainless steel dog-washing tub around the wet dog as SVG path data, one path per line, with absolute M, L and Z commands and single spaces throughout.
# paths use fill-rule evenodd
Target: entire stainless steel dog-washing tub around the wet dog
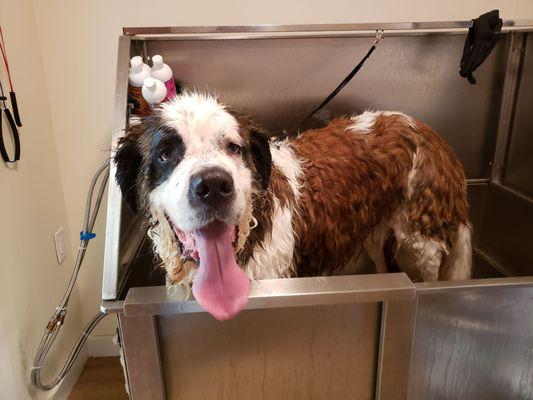
M 130 56 L 161 54 L 184 87 L 214 90 L 282 132 L 383 29 L 365 67 L 313 123 L 369 108 L 429 123 L 465 166 L 475 229 L 475 279 L 259 281 L 247 309 L 220 323 L 167 292 L 146 224 L 110 179 L 102 309 L 118 315 L 134 399 L 533 398 L 533 21 L 505 21 L 474 86 L 458 75 L 469 26 L 124 29 L 113 145 L 128 119 Z

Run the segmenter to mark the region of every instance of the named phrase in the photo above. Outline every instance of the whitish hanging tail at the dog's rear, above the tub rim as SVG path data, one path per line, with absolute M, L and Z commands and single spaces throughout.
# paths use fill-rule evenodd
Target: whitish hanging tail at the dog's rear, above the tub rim
M 460 224 L 444 264 L 439 271 L 439 280 L 470 279 L 472 273 L 472 228 Z

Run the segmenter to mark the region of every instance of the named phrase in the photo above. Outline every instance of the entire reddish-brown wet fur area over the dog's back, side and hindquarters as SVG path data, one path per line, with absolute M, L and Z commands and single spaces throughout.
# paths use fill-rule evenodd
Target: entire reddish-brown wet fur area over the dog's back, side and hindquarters
M 383 219 L 407 207 L 409 223 L 445 240 L 468 223 L 466 180 L 451 148 L 427 125 L 403 116 L 378 116 L 371 132 L 337 119 L 292 141 L 304 160 L 294 263 L 298 275 L 331 274 L 358 251 Z M 417 152 L 420 155 L 415 159 Z M 409 172 L 419 169 L 408 198 Z

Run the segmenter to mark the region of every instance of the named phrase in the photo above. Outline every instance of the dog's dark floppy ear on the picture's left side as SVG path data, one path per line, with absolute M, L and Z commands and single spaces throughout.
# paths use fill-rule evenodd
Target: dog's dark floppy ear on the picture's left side
M 122 196 L 136 214 L 139 208 L 137 177 L 141 168 L 142 156 L 137 147 L 135 136 L 126 136 L 119 142 L 114 161 L 117 166 L 115 179 L 120 187 Z

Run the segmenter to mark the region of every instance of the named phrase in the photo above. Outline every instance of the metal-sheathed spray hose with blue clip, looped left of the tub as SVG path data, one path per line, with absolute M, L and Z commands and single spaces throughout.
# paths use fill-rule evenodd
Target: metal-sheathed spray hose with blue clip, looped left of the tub
M 50 348 L 54 344 L 54 341 L 56 340 L 57 335 L 59 334 L 59 330 L 61 329 L 61 326 L 63 326 L 65 318 L 67 316 L 70 295 L 72 294 L 72 290 L 74 289 L 74 284 L 76 283 L 76 280 L 78 279 L 78 273 L 83 263 L 83 259 L 85 257 L 85 252 L 87 251 L 87 246 L 89 245 L 89 241 L 96 236 L 94 233 L 92 233 L 92 229 L 96 222 L 96 217 L 98 216 L 98 211 L 102 203 L 102 197 L 104 195 L 104 191 L 107 186 L 107 181 L 109 179 L 109 174 L 104 173 L 105 171 L 107 171 L 108 168 L 109 168 L 109 161 L 106 161 L 100 168 L 98 168 L 98 170 L 96 171 L 96 173 L 94 174 L 91 180 L 91 184 L 89 186 L 89 193 L 87 194 L 87 202 L 85 205 L 83 229 L 80 232 L 80 245 L 78 247 L 76 261 L 74 263 L 74 269 L 72 271 L 72 275 L 70 277 L 67 290 L 65 291 L 65 294 L 63 295 L 63 298 L 61 299 L 61 302 L 56 307 L 54 313 L 50 317 L 50 320 L 46 324 L 43 337 L 41 339 L 41 342 L 39 343 L 39 347 L 37 348 L 37 352 L 35 354 L 33 366 L 31 367 L 31 383 L 37 389 L 40 389 L 40 390 L 53 389 L 63 380 L 63 378 L 67 375 L 67 373 L 70 371 L 70 369 L 74 365 L 74 362 L 78 358 L 91 332 L 94 330 L 96 325 L 98 325 L 98 323 L 107 315 L 99 311 L 96 315 L 94 315 L 91 318 L 91 320 L 87 323 L 87 325 L 83 329 L 81 335 L 78 338 L 78 341 L 72 348 L 65 364 L 63 365 L 61 370 L 58 372 L 57 376 L 50 383 L 43 383 L 41 380 L 41 370 L 44 366 L 46 356 L 48 352 L 50 351 Z M 94 201 L 94 204 L 93 204 L 95 188 L 102 174 L 103 174 L 103 177 L 100 180 L 100 184 L 98 187 L 98 193 L 96 195 L 96 200 Z

